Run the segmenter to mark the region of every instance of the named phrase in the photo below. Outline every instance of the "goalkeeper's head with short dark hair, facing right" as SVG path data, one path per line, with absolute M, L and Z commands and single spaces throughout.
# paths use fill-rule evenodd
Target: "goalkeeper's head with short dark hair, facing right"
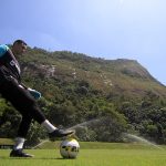
M 27 50 L 27 43 L 23 40 L 15 40 L 12 44 L 12 52 L 14 55 L 21 55 Z

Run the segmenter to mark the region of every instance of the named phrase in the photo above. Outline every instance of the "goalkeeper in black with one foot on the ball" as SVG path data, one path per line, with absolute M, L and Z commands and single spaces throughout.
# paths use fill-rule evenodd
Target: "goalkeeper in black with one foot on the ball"
M 37 104 L 35 100 L 40 98 L 41 94 L 21 83 L 20 65 L 15 56 L 22 55 L 25 50 L 27 43 L 22 40 L 14 41 L 11 49 L 8 45 L 0 45 L 0 94 L 22 115 L 10 157 L 32 157 L 23 152 L 23 144 L 32 118 L 48 129 L 50 139 L 73 133 L 73 131 L 59 129 L 53 126 Z

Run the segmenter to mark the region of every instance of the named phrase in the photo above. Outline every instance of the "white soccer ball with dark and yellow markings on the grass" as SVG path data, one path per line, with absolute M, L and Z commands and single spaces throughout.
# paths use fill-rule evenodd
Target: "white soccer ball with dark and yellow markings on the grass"
M 60 154 L 63 158 L 76 158 L 80 145 L 76 139 L 65 139 L 60 145 Z

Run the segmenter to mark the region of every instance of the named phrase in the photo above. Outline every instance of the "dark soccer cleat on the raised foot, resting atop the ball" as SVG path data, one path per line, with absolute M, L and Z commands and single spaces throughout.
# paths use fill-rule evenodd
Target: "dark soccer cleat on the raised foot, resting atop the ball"
M 74 131 L 55 129 L 54 132 L 49 133 L 49 138 L 50 141 L 55 141 L 56 137 L 65 137 L 69 135 L 73 135 L 74 133 Z

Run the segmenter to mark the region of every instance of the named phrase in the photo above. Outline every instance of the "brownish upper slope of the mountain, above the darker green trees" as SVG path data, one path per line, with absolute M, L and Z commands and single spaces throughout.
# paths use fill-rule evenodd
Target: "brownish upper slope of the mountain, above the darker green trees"
M 46 52 L 34 48 L 21 61 L 25 70 L 43 77 L 66 82 L 83 80 L 105 94 L 116 92 L 134 97 L 152 91 L 157 95 L 166 95 L 166 87 L 134 60 L 103 60 L 68 51 Z

